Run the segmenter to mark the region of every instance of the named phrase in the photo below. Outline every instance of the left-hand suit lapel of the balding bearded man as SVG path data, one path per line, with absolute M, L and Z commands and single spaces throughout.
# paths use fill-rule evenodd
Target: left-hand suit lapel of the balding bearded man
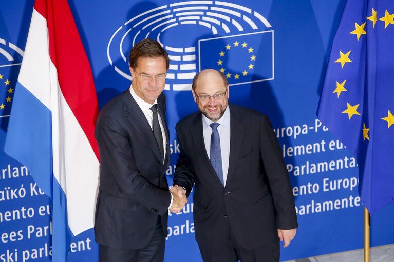
M 194 125 L 190 128 L 190 132 L 195 143 L 195 149 L 197 151 L 196 154 L 202 158 L 202 165 L 206 166 L 210 170 L 210 175 L 215 177 L 218 186 L 220 185 L 220 187 L 223 188 L 223 185 L 221 184 L 215 169 L 212 167 L 211 161 L 207 154 L 207 149 L 205 148 L 204 134 L 202 132 L 202 113 L 197 114 L 196 118 L 194 119 Z

